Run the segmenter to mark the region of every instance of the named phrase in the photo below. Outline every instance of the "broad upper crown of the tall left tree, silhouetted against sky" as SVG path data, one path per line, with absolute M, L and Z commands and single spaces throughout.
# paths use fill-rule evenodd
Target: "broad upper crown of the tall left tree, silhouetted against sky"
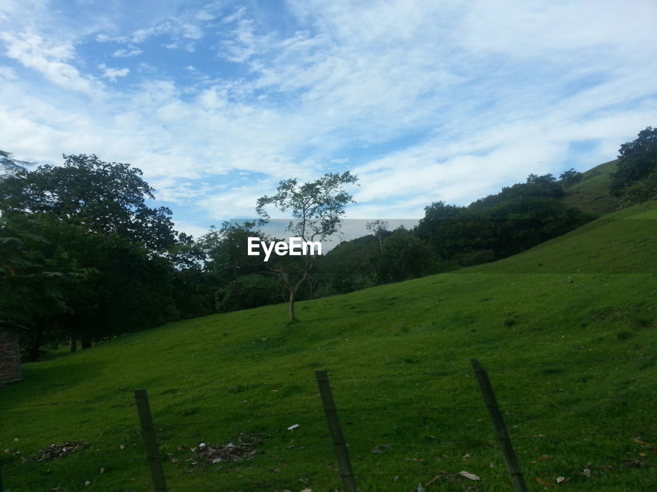
M 45 213 L 93 232 L 116 233 L 164 251 L 176 242 L 171 211 L 149 208 L 154 189 L 141 170 L 95 155 L 64 155 L 64 165 L 18 169 L 0 182 L 0 211 Z

